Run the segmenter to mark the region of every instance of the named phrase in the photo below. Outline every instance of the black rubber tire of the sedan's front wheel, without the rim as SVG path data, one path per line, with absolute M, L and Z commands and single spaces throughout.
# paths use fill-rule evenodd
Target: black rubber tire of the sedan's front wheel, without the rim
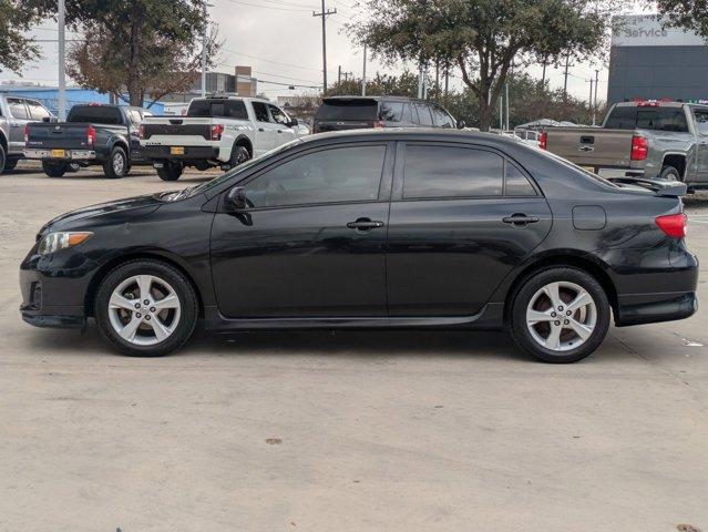
M 112 310 L 110 310 L 109 301 L 111 300 L 113 291 L 123 282 L 137 275 L 150 275 L 158 280 L 166 282 L 174 289 L 181 307 L 178 318 L 176 319 L 177 323 L 170 324 L 171 326 L 175 326 L 174 331 L 164 340 L 150 346 L 136 345 L 124 339 L 119 335 L 111 321 L 110 313 Z M 160 286 L 157 282 L 155 282 L 155 284 Z M 137 297 L 138 299 L 135 299 L 135 301 L 140 304 L 140 295 Z M 158 298 L 155 298 L 155 300 L 158 300 Z M 189 280 L 173 266 L 160 260 L 135 259 L 117 266 L 101 282 L 95 298 L 94 316 L 103 337 L 121 352 L 132 357 L 162 357 L 179 349 L 194 332 L 198 316 L 197 297 Z M 124 317 L 126 323 L 130 323 L 131 319 L 138 319 L 136 317 L 138 316 L 137 311 L 132 314 L 130 318 L 127 316 L 126 314 Z M 114 319 L 117 318 L 114 316 Z M 157 318 L 153 317 L 153 320 L 154 319 Z M 141 328 L 137 329 L 140 334 L 151 334 L 148 321 L 143 319 L 140 327 Z

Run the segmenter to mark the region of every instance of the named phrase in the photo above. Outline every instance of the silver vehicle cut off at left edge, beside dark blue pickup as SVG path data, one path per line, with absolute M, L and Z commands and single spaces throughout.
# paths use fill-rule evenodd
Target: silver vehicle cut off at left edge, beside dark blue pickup
M 52 119 L 49 109 L 37 100 L 0 94 L 0 174 L 14 170 L 24 158 L 24 126 Z

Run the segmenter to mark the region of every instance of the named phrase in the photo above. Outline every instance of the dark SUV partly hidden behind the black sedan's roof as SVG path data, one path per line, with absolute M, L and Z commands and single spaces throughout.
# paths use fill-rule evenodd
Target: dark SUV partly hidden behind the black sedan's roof
M 365 127 L 464 127 L 441 105 L 403 96 L 330 96 L 315 113 L 312 133 Z

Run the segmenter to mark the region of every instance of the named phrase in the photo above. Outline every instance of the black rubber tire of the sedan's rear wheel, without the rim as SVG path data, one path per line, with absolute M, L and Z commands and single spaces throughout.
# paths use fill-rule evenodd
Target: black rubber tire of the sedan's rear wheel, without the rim
M 591 295 L 595 304 L 595 326 L 585 341 L 579 344 L 577 347 L 572 348 L 572 342 L 577 341 L 573 339 L 574 336 L 576 336 L 575 332 L 570 327 L 562 329 L 565 331 L 563 335 L 570 337 L 570 340 L 567 340 L 567 350 L 548 349 L 541 345 L 541 342 L 532 335 L 531 327 L 527 325 L 526 320 L 526 310 L 529 305 L 532 303 L 532 298 L 534 298 L 541 288 L 551 283 L 557 282 L 579 286 Z M 571 298 L 572 296 L 568 296 L 566 291 L 561 293 L 562 301 L 567 304 Z M 548 307 L 550 306 L 551 305 L 548 304 Z M 554 309 L 548 308 L 545 311 L 550 310 Z M 563 311 L 566 310 L 567 309 L 564 309 Z M 565 320 L 565 317 L 562 316 L 562 313 L 558 313 L 558 315 L 560 319 L 557 321 L 553 320 L 553 324 L 562 325 L 561 321 L 568 323 Z M 510 325 L 512 336 L 522 350 L 544 362 L 567 364 L 575 362 L 587 357 L 599 347 L 607 335 L 609 317 L 610 307 L 607 295 L 601 284 L 592 275 L 583 272 L 582 269 L 570 266 L 548 267 L 533 272 L 524 280 L 522 280 L 512 299 Z M 577 318 L 577 314 L 573 314 L 570 319 L 572 318 Z M 544 327 L 544 325 L 543 323 L 540 323 L 536 327 Z M 547 327 L 551 327 L 551 321 L 548 321 Z M 534 330 L 538 331 L 536 328 L 534 328 Z M 538 335 L 538 332 L 536 334 Z M 547 338 L 550 338 L 550 331 L 548 337 L 545 339 L 547 340 Z M 563 339 L 563 336 L 561 336 L 561 339 Z

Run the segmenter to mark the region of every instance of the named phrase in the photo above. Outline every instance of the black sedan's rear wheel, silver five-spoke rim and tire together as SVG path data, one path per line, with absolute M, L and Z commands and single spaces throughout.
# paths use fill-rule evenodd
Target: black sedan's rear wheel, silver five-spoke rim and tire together
M 572 267 L 551 267 L 522 282 L 511 310 L 512 336 L 545 362 L 575 362 L 591 355 L 609 327 L 609 301 L 601 284 Z

